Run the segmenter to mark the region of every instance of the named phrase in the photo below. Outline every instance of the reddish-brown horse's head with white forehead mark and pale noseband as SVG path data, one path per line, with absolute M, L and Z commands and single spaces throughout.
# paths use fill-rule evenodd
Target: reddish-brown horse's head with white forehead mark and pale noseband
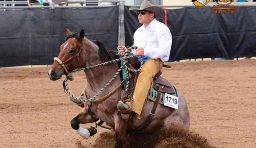
M 54 58 L 54 63 L 49 68 L 48 75 L 50 80 L 58 80 L 63 74 L 69 74 L 76 68 L 80 68 L 84 64 L 83 40 L 85 32 L 82 29 L 80 33 L 73 34 L 66 27 L 67 38 L 65 43 L 60 46 L 58 58 Z

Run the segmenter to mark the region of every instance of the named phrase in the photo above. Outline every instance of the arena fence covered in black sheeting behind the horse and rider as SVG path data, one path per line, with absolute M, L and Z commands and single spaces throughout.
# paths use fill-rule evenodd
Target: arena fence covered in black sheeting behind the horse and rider
M 141 24 L 136 13 L 129 11 L 131 6 L 122 0 L 113 2 L 117 5 L 0 7 L 0 21 L 4 22 L 0 23 L 0 67 L 52 64 L 65 42 L 65 26 L 71 31 L 83 28 L 86 37 L 102 41 L 112 50 L 118 45 L 131 46 L 133 33 Z M 254 57 L 256 3 L 233 5 L 238 8 L 235 14 L 213 14 L 209 8 L 212 5 L 162 6 L 167 13 L 159 21 L 173 36 L 169 61 Z

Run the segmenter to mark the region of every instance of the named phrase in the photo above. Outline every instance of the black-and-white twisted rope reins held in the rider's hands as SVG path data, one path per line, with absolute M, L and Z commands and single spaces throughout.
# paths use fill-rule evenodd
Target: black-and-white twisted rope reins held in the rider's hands
M 69 95 L 69 98 L 72 102 L 78 104 L 78 102 L 86 102 L 87 101 L 88 105 L 90 106 L 92 104 L 92 101 L 96 100 L 96 97 L 98 97 L 98 95 L 100 95 L 100 93 L 102 93 L 102 91 L 117 77 L 117 75 L 122 70 L 122 68 L 125 68 L 125 72 L 126 72 L 127 78 L 128 78 L 127 81 L 126 81 L 126 87 L 125 87 L 125 91 L 127 91 L 128 87 L 129 87 L 129 80 L 131 79 L 131 72 L 139 72 L 142 69 L 142 66 L 144 64 L 143 61 L 142 61 L 142 58 L 141 58 L 140 59 L 141 64 L 140 64 L 139 69 L 134 70 L 134 69 L 131 69 L 127 66 L 129 58 L 134 57 L 133 55 L 129 56 L 129 53 L 131 53 L 132 49 L 137 49 L 137 48 L 138 48 L 137 46 L 132 46 L 132 47 L 129 47 L 124 53 L 120 53 L 120 46 L 119 46 L 119 47 L 117 47 L 117 49 L 118 49 L 119 54 L 121 55 L 122 58 L 112 60 L 112 61 L 108 61 L 108 62 L 104 62 L 104 63 L 100 63 L 100 64 L 96 64 L 96 65 L 89 66 L 89 67 L 86 67 L 86 68 L 77 68 L 77 69 L 73 70 L 72 72 L 70 72 L 69 74 L 66 75 L 65 80 L 63 81 L 64 92 L 67 95 Z M 68 80 L 72 81 L 74 79 L 73 76 L 72 76 L 72 73 L 79 72 L 81 70 L 85 71 L 85 70 L 88 70 L 88 69 L 96 68 L 96 67 L 103 66 L 103 65 L 106 65 L 106 64 L 111 64 L 113 62 L 118 62 L 118 61 L 121 61 L 121 60 L 123 60 L 123 66 L 121 66 L 119 68 L 119 70 L 117 70 L 117 72 L 109 80 L 109 82 L 94 97 L 92 97 L 90 99 L 87 99 L 87 100 L 84 100 L 84 99 L 81 99 L 81 98 L 78 98 L 78 97 L 75 97 L 74 95 L 72 95 L 72 93 L 69 89 L 69 85 L 68 85 Z

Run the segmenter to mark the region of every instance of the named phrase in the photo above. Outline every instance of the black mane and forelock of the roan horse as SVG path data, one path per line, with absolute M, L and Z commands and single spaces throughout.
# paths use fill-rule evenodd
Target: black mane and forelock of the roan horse
M 79 33 L 73 32 L 71 35 L 68 35 L 66 37 L 66 41 L 72 37 L 75 37 L 75 39 L 77 39 L 79 41 L 82 40 L 81 37 L 79 36 Z M 104 43 L 97 41 L 97 40 L 92 40 L 92 39 L 89 39 L 89 40 L 92 41 L 94 44 L 96 44 L 99 47 L 98 54 L 99 54 L 100 60 L 102 60 L 102 62 L 115 60 L 115 59 L 118 59 L 121 57 L 117 51 L 109 50 L 108 47 Z

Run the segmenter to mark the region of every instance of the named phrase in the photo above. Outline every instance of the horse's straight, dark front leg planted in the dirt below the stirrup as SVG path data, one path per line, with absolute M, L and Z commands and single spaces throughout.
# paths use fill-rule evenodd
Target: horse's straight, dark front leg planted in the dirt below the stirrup
M 115 146 L 114 148 L 123 148 L 123 138 L 125 137 L 128 119 L 122 119 L 118 115 L 115 120 Z

